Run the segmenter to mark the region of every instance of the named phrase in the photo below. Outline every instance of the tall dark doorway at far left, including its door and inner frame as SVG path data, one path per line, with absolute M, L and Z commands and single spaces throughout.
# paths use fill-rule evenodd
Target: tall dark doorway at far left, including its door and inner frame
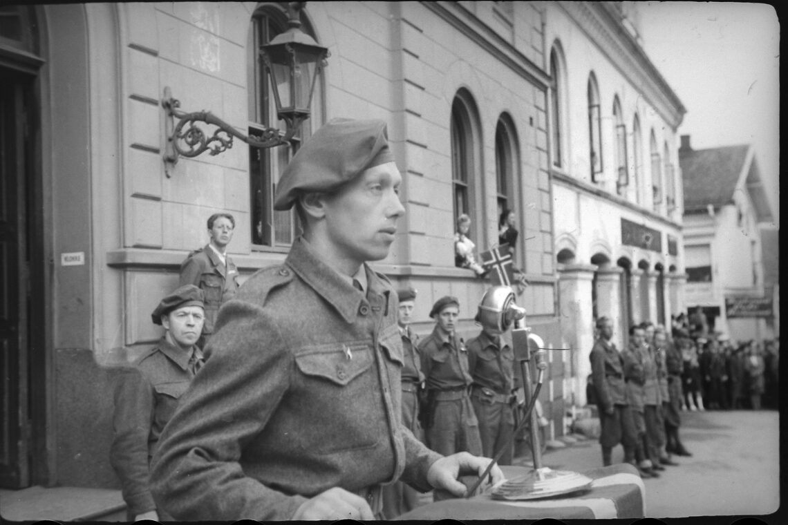
M 43 205 L 35 76 L 0 66 L 0 486 L 39 479 L 46 373 Z M 37 378 L 37 379 L 36 379 Z

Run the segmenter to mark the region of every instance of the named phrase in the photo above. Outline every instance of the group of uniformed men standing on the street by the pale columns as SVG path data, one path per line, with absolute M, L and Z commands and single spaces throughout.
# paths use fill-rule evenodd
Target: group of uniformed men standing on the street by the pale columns
M 691 455 L 678 436 L 681 424 L 682 357 L 663 327 L 645 322 L 630 327 L 630 342 L 619 352 L 611 342 L 613 324 L 597 321 L 600 336 L 591 350 L 589 395 L 599 411 L 602 462 L 623 445 L 624 461 L 643 478 L 659 477 L 671 454 Z

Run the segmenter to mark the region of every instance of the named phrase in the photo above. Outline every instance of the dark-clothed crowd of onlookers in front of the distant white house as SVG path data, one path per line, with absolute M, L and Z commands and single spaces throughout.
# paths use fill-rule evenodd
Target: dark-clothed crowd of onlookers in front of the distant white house
M 777 409 L 779 338 L 735 341 L 710 331 L 701 317 L 682 313 L 672 320 L 684 361 L 682 409 Z

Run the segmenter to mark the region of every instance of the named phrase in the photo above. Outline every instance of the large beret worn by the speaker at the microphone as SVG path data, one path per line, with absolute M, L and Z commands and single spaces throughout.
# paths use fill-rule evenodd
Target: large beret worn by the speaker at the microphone
M 273 209 L 290 209 L 301 192 L 330 193 L 365 169 L 393 161 L 383 120 L 329 120 L 284 168 Z

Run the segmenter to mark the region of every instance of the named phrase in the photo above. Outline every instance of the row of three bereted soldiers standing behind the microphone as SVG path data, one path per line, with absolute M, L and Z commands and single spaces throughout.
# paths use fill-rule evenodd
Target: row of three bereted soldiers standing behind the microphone
M 459 300 L 452 296 L 435 302 L 429 312 L 435 327 L 419 339 L 410 327 L 416 290 L 398 294 L 403 423 L 437 453 L 493 457 L 505 446 L 498 464 L 511 464 L 519 386 L 513 349 L 490 327 L 464 342 L 456 332 Z M 416 505 L 418 494 L 403 484 L 385 490 L 389 519 Z

